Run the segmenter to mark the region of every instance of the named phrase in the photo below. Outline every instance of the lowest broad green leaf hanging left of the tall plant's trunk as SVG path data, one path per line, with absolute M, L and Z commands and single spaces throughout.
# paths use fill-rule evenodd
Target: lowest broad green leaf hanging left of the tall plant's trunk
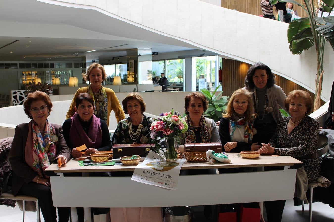
M 312 46 L 314 46 L 314 39 L 311 28 L 305 28 L 291 39 L 289 47 L 292 54 L 300 55 L 303 50 L 308 50 Z

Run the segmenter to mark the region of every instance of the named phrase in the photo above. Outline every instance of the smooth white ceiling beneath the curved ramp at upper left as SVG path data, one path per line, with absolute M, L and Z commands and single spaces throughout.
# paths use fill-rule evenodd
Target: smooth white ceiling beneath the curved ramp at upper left
M 35 0 L 2 4 L 0 30 L 0 48 L 19 40 L 0 49 L 0 61 L 62 61 L 86 56 L 103 60 L 125 56 L 133 48 L 159 53 L 198 49 L 96 10 Z M 91 50 L 97 51 L 87 52 Z

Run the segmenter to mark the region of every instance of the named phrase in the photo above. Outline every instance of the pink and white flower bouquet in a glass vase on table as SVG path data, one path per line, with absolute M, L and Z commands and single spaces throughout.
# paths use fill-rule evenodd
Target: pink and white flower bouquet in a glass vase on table
M 187 131 L 188 125 L 181 119 L 180 113 L 174 112 L 173 109 L 171 112 L 161 113 L 160 116 L 152 122 L 150 138 L 155 142 L 158 153 L 162 151 L 166 155 L 166 160 L 175 161 L 177 160 L 177 137 Z M 166 138 L 166 151 L 162 150 L 157 142 L 158 139 L 163 137 Z

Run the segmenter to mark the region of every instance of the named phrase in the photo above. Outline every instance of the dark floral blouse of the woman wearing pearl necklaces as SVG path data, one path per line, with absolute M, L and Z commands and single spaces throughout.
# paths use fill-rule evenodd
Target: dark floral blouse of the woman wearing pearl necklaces
M 138 137 L 138 139 L 136 141 L 133 141 L 130 137 L 130 133 L 129 133 L 129 121 L 130 121 L 130 117 L 121 120 L 118 124 L 117 124 L 117 128 L 114 132 L 114 136 L 113 136 L 113 144 L 130 144 L 133 142 L 136 143 L 141 143 L 140 142 L 140 138 L 142 136 L 146 136 L 148 139 L 150 138 L 150 126 L 153 122 L 153 118 L 151 117 L 147 117 L 146 115 L 144 115 L 144 119 L 143 119 L 143 128 L 141 131 L 140 136 Z M 132 125 L 132 130 L 134 132 L 136 132 L 138 126 L 134 126 Z

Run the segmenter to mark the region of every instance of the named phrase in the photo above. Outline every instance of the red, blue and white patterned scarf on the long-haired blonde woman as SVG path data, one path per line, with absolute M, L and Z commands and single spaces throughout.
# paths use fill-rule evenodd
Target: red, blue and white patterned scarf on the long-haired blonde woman
M 243 137 L 243 141 L 247 143 L 251 143 L 253 139 L 253 122 L 248 120 L 245 120 L 245 117 L 238 117 L 233 114 L 233 116 L 229 120 L 229 134 L 230 134 L 230 139 L 232 141 L 233 133 L 235 131 L 235 126 L 240 128 L 241 126 L 245 126 L 245 134 Z

